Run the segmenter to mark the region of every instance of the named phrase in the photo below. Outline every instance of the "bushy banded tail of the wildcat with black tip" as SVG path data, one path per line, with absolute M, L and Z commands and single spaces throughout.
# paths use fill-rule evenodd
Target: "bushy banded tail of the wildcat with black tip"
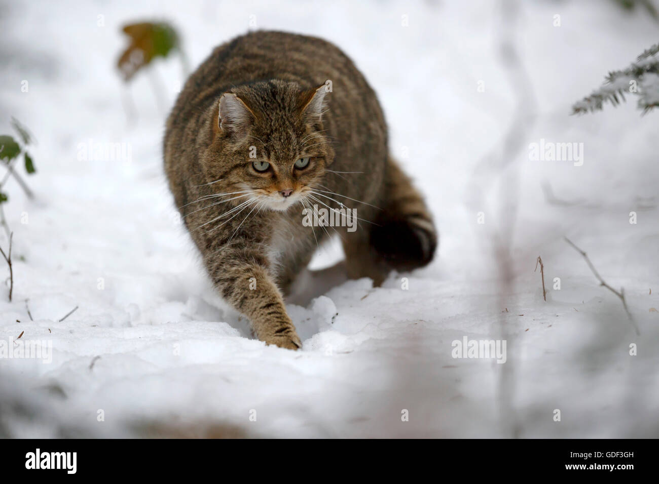
M 391 156 L 385 190 L 370 244 L 392 269 L 423 267 L 432 261 L 439 236 L 423 197 Z

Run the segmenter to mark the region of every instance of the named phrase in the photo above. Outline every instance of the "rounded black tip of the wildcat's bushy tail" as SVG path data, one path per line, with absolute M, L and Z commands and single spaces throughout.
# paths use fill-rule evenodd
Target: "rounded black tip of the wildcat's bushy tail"
M 386 221 L 373 227 L 370 243 L 393 269 L 411 271 L 432 261 L 437 235 L 413 221 Z

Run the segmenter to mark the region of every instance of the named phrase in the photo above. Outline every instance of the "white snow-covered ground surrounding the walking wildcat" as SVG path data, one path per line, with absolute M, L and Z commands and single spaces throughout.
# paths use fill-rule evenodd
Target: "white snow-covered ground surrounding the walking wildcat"
M 568 115 L 606 72 L 656 43 L 657 26 L 612 2 L 525 1 L 508 33 L 530 82 L 513 75 L 510 84 L 498 5 L 0 3 L 0 134 L 13 115 L 39 142 L 28 180 L 36 200 L 7 184 L 14 294 L 11 303 L 0 294 L 0 339 L 52 347 L 51 362 L 0 359 L 0 435 L 659 437 L 659 312 L 650 309 L 659 309 L 659 113 L 641 117 L 628 97 Z M 250 20 L 343 48 L 378 92 L 391 149 L 432 205 L 441 233 L 432 265 L 375 290 L 352 281 L 306 308 L 289 305 L 299 352 L 250 338 L 215 294 L 165 185 L 163 119 L 180 64 L 156 65 L 160 109 L 148 75 L 127 91 L 114 70 L 119 26 L 145 18 L 174 22 L 193 66 Z M 501 171 L 483 160 L 503 153 L 515 103 L 529 92 L 536 116 Z M 527 147 L 541 138 L 583 143 L 583 166 L 530 161 Z M 95 143 L 129 151 L 81 160 Z M 548 202 L 543 185 L 573 203 Z M 509 250 L 510 286 L 496 234 Z M 625 287 L 639 336 L 563 236 Z M 330 246 L 313 264 L 339 257 Z M 451 342 L 465 336 L 505 338 L 507 361 L 453 358 Z

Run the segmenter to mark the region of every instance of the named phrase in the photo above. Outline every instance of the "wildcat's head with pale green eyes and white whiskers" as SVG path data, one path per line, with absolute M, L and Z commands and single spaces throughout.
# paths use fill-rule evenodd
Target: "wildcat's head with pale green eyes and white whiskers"
M 271 80 L 237 86 L 217 101 L 204 157 L 215 192 L 285 211 L 318 188 L 334 151 L 322 114 L 328 89 Z M 227 197 L 229 198 L 229 197 Z

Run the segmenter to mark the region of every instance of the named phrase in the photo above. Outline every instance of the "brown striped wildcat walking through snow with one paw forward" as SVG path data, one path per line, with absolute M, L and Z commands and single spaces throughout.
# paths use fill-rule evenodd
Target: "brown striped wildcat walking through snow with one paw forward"
M 388 154 L 375 93 L 320 38 L 258 31 L 215 48 L 181 91 L 163 151 L 208 274 L 266 344 L 301 347 L 283 296 L 331 234 L 347 276 L 376 286 L 434 255 L 432 217 Z M 357 229 L 303 224 L 313 205 L 354 209 Z

